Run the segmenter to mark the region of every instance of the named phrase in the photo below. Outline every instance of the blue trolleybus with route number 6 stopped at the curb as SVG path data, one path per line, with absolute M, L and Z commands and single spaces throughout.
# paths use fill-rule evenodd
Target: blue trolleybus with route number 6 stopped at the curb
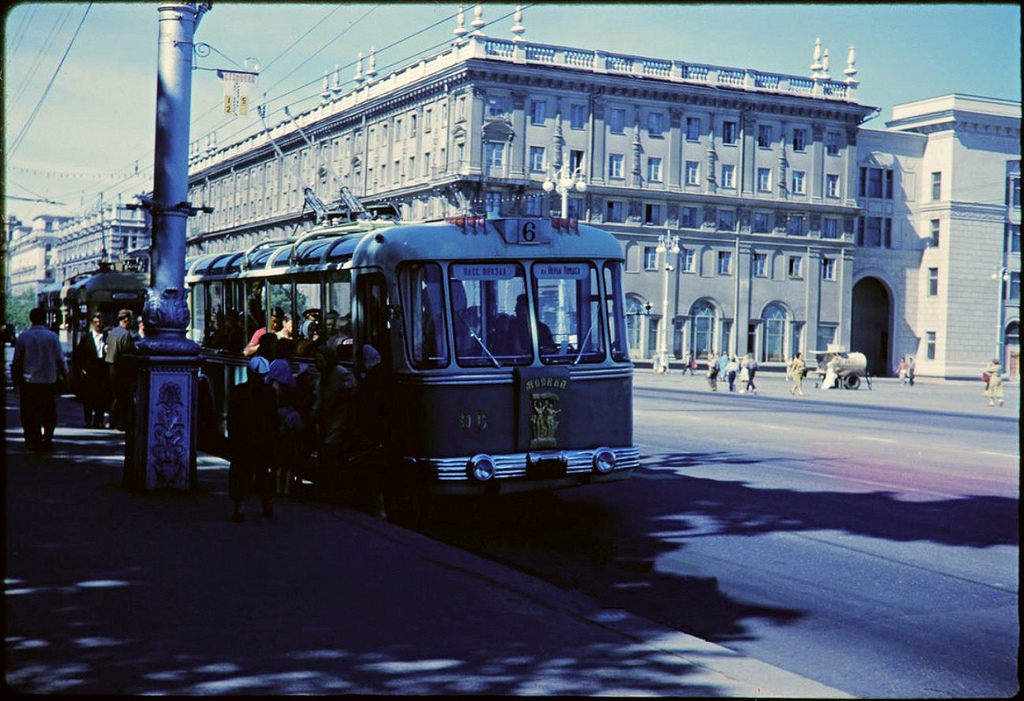
M 353 401 L 374 459 L 316 475 L 370 471 L 386 496 L 623 479 L 639 465 L 623 269 L 611 234 L 536 218 L 357 220 L 204 255 L 186 264 L 200 421 L 226 441 L 243 348 L 281 307 L 295 371 L 326 344 L 373 378 Z

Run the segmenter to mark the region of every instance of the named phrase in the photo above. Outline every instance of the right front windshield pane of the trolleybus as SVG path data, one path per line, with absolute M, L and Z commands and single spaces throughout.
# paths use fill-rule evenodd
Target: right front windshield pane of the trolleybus
M 597 270 L 585 262 L 534 265 L 538 341 L 545 363 L 604 360 Z

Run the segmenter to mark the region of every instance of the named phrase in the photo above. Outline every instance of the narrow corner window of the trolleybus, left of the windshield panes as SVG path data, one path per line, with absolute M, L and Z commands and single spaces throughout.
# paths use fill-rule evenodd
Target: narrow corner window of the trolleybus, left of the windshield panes
M 444 367 L 449 364 L 444 343 L 444 297 L 441 268 L 437 263 L 414 263 L 399 272 L 406 352 L 414 367 Z

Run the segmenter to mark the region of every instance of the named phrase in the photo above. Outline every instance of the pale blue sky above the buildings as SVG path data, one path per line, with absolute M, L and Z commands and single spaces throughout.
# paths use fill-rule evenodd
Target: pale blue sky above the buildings
M 6 214 L 82 213 L 100 190 L 110 201 L 122 190 L 130 196 L 152 188 L 157 7 L 24 3 L 6 11 L 5 194 L 63 203 L 5 199 Z M 311 105 L 324 72 L 335 64 L 350 87 L 356 53 L 371 46 L 382 73 L 439 50 L 454 36 L 457 9 L 447 2 L 215 2 L 196 36 L 212 50 L 196 59 L 191 137 L 215 131 L 223 145 L 259 126 L 254 112 L 219 114 L 223 88 L 213 69 L 257 58 L 262 70 L 251 98 L 258 102 L 266 92 L 278 111 L 268 122 L 275 124 L 285 104 L 293 114 Z M 484 33 L 511 38 L 514 9 L 514 3 L 485 3 Z M 467 28 L 473 17 L 467 5 Z M 1020 100 L 1020 20 L 1011 3 L 523 4 L 528 41 L 770 73 L 809 75 L 820 38 L 833 78 L 842 79 L 853 45 L 859 100 L 881 108 L 869 122 L 877 128 L 893 104 L 950 92 Z

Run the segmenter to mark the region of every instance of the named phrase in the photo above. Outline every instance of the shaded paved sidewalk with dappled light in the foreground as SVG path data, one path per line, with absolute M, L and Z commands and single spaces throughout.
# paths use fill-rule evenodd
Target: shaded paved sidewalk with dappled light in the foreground
M 125 491 L 123 434 L 61 399 L 55 451 L 28 452 L 16 400 L 16 692 L 845 696 L 327 499 L 283 499 L 272 520 L 251 502 L 231 523 L 212 456 L 195 492 Z

